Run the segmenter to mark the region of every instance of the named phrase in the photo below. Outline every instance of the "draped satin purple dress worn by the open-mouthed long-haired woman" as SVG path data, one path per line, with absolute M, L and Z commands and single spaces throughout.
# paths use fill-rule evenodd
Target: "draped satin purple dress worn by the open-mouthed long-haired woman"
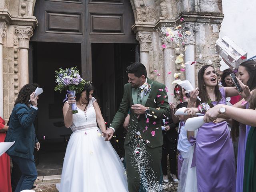
M 218 104 L 226 104 L 224 88 L 220 92 L 222 100 Z M 236 190 L 234 150 L 226 121 L 209 122 L 198 128 L 195 152 L 198 192 Z

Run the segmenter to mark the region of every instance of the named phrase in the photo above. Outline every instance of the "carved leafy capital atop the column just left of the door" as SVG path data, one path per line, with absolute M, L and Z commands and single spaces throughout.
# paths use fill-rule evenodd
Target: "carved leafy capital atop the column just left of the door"
M 18 37 L 19 48 L 28 49 L 29 40 L 33 36 L 33 28 L 15 27 L 14 34 Z

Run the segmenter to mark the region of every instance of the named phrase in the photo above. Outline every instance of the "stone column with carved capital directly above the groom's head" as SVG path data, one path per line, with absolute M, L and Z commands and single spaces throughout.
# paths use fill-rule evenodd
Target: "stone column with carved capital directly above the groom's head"
M 136 33 L 136 40 L 140 42 L 140 62 L 146 67 L 147 76 L 149 77 L 149 49 L 152 43 L 152 34 L 139 31 Z

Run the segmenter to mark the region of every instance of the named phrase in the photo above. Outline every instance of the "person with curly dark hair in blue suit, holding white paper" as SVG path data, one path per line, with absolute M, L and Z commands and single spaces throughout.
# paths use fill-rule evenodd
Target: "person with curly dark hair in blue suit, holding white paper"
M 18 164 L 22 172 L 15 192 L 31 189 L 37 178 L 33 155 L 34 148 L 37 150 L 40 148 L 34 126 L 38 112 L 38 96 L 34 92 L 36 88 L 37 84 L 26 84 L 21 88 L 10 116 L 9 129 L 5 138 L 5 142 L 15 141 L 14 145 L 7 150 L 7 154 Z

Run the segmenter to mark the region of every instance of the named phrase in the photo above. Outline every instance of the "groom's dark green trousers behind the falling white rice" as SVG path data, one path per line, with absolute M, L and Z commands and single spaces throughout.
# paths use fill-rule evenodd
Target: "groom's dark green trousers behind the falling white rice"
M 124 149 L 129 192 L 139 192 L 141 184 L 144 191 L 161 192 L 162 147 L 150 148 L 143 139 L 134 138 Z

